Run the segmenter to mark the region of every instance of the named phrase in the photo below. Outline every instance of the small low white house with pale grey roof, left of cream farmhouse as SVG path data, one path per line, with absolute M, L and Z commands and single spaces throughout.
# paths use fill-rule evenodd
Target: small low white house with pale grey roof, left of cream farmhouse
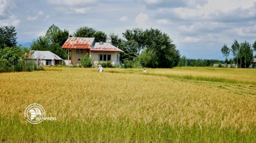
M 44 65 L 62 64 L 63 61 L 61 57 L 49 51 L 31 50 L 27 56 L 35 63 L 41 62 Z

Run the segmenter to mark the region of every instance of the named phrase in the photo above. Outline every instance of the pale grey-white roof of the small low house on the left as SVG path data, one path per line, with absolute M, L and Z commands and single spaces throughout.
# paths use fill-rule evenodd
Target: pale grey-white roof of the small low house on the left
M 30 52 L 33 52 L 33 54 L 30 57 L 32 59 L 38 58 L 38 60 L 62 60 L 61 57 L 49 51 L 33 50 Z

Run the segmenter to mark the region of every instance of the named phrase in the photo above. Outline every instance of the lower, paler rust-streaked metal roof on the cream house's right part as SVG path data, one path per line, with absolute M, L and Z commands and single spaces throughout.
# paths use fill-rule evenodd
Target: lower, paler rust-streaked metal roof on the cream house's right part
M 91 52 L 123 52 L 118 47 L 111 45 L 111 43 L 99 44 L 96 42 L 94 47 L 91 48 Z

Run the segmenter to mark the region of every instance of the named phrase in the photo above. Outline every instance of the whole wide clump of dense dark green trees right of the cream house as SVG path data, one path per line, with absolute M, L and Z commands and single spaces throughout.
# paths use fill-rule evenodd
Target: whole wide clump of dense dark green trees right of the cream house
M 143 50 L 143 53 L 138 56 L 138 60 L 143 67 L 172 68 L 178 65 L 179 50 L 176 50 L 176 45 L 172 43 L 169 35 L 160 30 L 151 28 L 150 30 L 143 31 L 142 29 L 135 28 L 133 30 L 126 30 L 123 36 L 127 41 L 130 41 L 129 44 L 125 45 L 124 51 L 127 49 L 130 53 L 121 54 L 123 56 L 121 58 L 129 59 L 129 56 L 134 54 L 134 49 L 137 47 L 137 54 Z

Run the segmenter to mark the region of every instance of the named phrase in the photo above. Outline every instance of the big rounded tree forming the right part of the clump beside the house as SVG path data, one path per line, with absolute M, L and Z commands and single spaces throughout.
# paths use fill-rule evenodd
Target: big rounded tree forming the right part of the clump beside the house
M 151 60 L 149 65 L 145 67 L 151 68 L 172 68 L 179 63 L 180 53 L 176 50 L 176 45 L 173 44 L 169 35 L 162 33 L 158 29 L 145 30 L 143 34 L 145 38 L 143 54 L 139 58 L 140 61 L 144 61 L 143 58 Z

